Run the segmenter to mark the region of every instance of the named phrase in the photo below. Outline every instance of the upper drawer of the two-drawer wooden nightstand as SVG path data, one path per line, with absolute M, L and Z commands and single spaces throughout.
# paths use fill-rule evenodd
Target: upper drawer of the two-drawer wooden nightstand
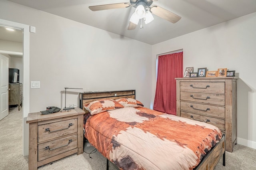
M 77 132 L 77 119 L 58 121 L 38 126 L 38 142 Z

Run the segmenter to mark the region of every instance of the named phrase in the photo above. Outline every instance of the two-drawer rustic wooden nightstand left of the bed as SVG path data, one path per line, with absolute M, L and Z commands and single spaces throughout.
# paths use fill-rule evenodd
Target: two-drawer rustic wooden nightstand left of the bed
M 83 153 L 84 113 L 76 107 L 48 115 L 28 114 L 30 170 L 74 153 Z

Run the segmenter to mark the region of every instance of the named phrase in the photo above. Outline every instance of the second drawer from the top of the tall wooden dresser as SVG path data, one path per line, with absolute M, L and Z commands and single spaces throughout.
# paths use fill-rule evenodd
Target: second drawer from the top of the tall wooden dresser
M 196 93 L 196 92 L 180 92 L 180 100 L 193 101 L 199 103 L 225 105 L 225 95 L 223 94 L 210 94 L 210 93 Z

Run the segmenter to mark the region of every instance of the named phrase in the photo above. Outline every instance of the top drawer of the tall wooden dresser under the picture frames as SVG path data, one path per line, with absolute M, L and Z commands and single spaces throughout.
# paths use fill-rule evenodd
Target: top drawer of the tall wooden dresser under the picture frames
M 224 82 L 180 82 L 180 91 L 196 91 L 205 93 L 225 93 Z

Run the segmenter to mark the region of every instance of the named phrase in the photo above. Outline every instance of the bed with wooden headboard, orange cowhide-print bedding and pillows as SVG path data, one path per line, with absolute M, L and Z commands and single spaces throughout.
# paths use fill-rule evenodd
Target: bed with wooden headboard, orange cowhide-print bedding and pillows
M 147 109 L 135 90 L 80 93 L 80 108 L 85 138 L 119 169 L 208 170 L 222 155 L 225 165 L 220 129 Z

